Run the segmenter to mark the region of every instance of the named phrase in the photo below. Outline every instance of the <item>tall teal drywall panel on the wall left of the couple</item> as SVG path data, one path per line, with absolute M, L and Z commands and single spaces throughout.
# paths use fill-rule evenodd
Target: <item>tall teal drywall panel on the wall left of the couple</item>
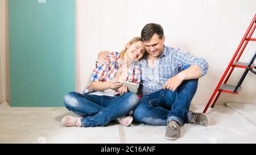
M 11 106 L 64 106 L 75 90 L 75 0 L 9 0 L 9 47 Z

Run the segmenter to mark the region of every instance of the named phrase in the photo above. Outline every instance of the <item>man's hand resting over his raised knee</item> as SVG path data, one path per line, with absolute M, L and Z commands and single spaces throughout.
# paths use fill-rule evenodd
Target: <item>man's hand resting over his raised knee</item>
M 164 85 L 164 89 L 170 89 L 172 91 L 175 91 L 184 79 L 184 75 L 179 73 L 166 82 L 166 84 Z

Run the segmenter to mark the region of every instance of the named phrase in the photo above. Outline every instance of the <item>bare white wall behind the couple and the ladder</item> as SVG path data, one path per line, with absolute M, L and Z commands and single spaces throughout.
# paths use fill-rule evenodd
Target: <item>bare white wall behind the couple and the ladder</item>
M 97 53 L 120 51 L 147 23 L 164 28 L 166 45 L 205 58 L 208 74 L 201 78 L 192 104 L 206 104 L 236 51 L 256 9 L 255 0 L 77 0 L 76 91 L 88 85 Z M 254 37 L 256 32 L 254 33 Z M 249 43 L 243 61 L 249 61 L 256 44 Z M 236 84 L 242 69 L 235 69 Z M 240 95 L 222 93 L 219 104 L 256 103 L 256 78 L 249 73 Z

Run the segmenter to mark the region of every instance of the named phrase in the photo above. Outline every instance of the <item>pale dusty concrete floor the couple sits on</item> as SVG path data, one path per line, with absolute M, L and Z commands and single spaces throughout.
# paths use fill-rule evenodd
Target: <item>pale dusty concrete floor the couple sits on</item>
M 195 111 L 204 106 L 191 105 Z M 64 107 L 10 107 L 0 104 L 0 143 L 256 143 L 256 104 L 227 103 L 209 108 L 207 127 L 185 124 L 176 141 L 166 126 L 111 123 L 107 127 L 63 127 Z

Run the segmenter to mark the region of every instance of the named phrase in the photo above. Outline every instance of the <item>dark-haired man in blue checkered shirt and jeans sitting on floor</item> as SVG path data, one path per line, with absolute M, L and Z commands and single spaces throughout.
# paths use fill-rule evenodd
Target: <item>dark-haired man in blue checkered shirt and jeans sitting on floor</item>
M 166 138 L 170 140 L 180 137 L 184 123 L 207 125 L 207 115 L 189 110 L 198 78 L 207 73 L 207 61 L 164 45 L 164 31 L 159 24 L 146 24 L 141 37 L 148 53 L 140 60 L 142 98 L 133 111 L 135 120 L 167 124 Z

